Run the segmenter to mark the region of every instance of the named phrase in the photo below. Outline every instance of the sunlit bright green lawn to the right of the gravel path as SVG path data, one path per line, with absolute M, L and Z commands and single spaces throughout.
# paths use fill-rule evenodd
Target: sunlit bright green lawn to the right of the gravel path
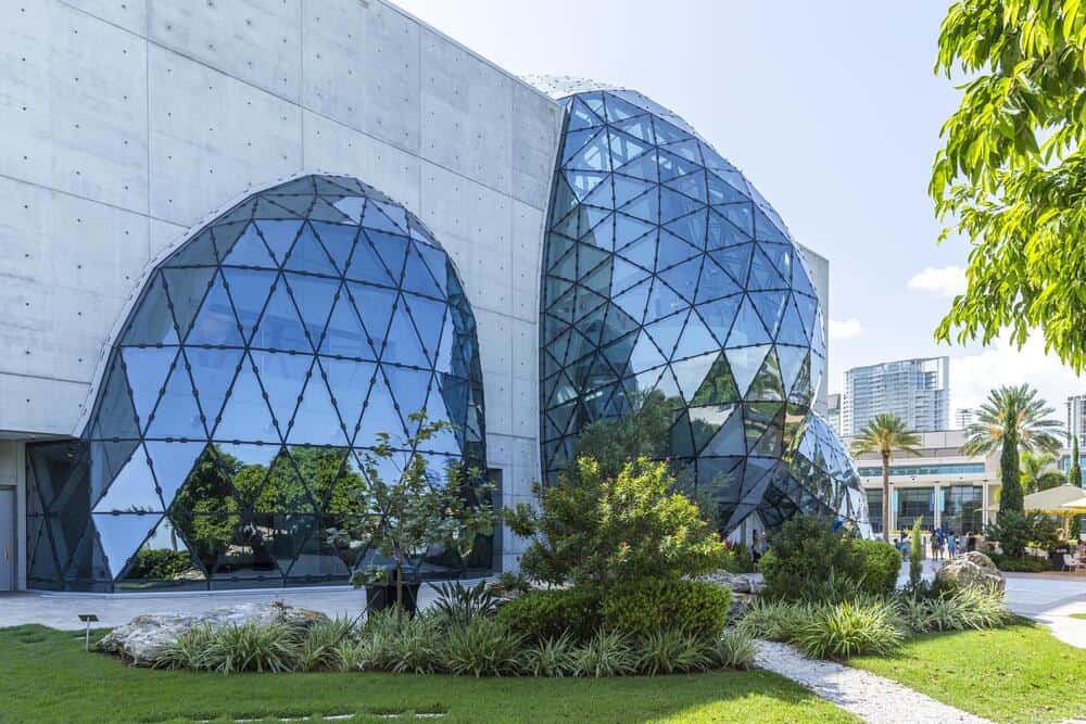
M 996 722 L 1086 716 L 1086 650 L 1040 624 L 918 636 L 899 657 L 848 663 Z

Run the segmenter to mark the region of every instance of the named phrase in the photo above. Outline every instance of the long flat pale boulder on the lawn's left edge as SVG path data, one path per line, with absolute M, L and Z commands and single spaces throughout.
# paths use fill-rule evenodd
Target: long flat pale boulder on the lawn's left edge
M 328 617 L 319 611 L 294 608 L 286 604 L 239 604 L 203 613 L 181 615 L 176 613 L 144 613 L 118 626 L 98 642 L 97 648 L 115 653 L 132 663 L 149 666 L 159 658 L 163 647 L 190 628 L 209 625 L 215 628 L 244 623 L 285 623 L 307 627 Z

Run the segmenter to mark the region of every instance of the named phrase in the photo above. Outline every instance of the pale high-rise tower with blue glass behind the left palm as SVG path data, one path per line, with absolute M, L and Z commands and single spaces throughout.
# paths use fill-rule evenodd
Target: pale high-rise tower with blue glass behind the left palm
M 897 415 L 917 432 L 946 430 L 949 370 L 949 357 L 923 357 L 846 371 L 842 433 L 859 434 L 868 420 L 884 412 Z

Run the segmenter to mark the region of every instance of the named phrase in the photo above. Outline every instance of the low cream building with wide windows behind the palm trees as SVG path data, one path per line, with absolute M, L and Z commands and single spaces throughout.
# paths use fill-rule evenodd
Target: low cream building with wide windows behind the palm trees
M 981 532 L 989 522 L 985 508 L 999 491 L 998 455 L 965 455 L 962 430 L 921 433 L 920 455 L 898 453 L 891 465 L 892 531 L 920 517 L 924 529 Z M 847 439 L 846 439 L 847 441 Z M 857 456 L 856 467 L 868 498 L 871 528 L 882 532 L 882 462 L 876 453 Z

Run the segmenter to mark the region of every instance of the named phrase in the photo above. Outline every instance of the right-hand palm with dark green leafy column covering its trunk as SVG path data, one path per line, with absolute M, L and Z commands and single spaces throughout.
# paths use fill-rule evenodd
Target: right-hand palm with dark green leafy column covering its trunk
M 1002 386 L 988 393 L 988 399 L 969 425 L 962 448 L 967 455 L 990 455 L 1000 450 L 1000 513 L 1007 510 L 1022 512 L 1019 453 L 1055 454 L 1060 449 L 1062 425 L 1050 419 L 1053 412 L 1056 409 L 1038 397 L 1037 391 L 1028 384 Z

